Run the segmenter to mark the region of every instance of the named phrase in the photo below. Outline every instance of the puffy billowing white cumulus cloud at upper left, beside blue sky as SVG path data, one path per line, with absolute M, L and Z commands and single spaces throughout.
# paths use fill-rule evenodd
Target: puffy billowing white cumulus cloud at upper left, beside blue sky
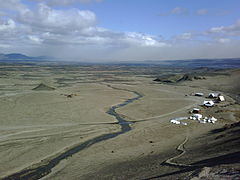
M 70 33 L 95 26 L 96 16 L 91 11 L 55 10 L 45 4 L 39 4 L 35 11 L 20 11 L 17 20 L 34 30 Z

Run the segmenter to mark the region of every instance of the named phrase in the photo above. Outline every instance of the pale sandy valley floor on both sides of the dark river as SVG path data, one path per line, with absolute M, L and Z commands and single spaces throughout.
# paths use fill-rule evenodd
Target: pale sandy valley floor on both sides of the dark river
M 228 78 L 239 77 L 239 71 L 230 73 L 232 77 L 215 76 L 210 79 L 230 86 Z M 169 121 L 189 116 L 188 112 L 193 107 L 200 107 L 205 98 L 191 94 L 211 92 L 213 88 L 205 85 L 208 78 L 166 85 L 135 75 L 128 76 L 128 81 L 119 81 L 115 77 L 111 77 L 111 81 L 92 81 L 87 79 L 89 74 L 85 77 L 81 74 L 81 82 L 59 86 L 52 91 L 31 90 L 38 80 L 24 86 L 25 81 L 11 79 L 12 84 L 22 83 L 22 89 L 3 93 L 0 97 L 1 178 L 14 179 L 11 175 L 17 172 L 38 168 L 91 139 L 121 131 L 117 119 L 106 112 L 110 107 L 134 98 L 134 92 L 142 97 L 116 109 L 121 118 L 130 122 L 130 131 L 86 145 L 83 150 L 54 165 L 42 179 L 198 178 L 196 172 L 204 167 L 239 163 L 238 126 L 216 130 L 240 120 L 239 104 L 231 96 L 234 90 L 228 94 L 226 86 L 222 89 L 219 86 L 214 90 L 223 92 L 226 102 L 213 108 L 201 107 L 204 116 L 218 119 L 216 124 L 186 120 L 184 122 L 188 125 L 184 126 Z M 45 81 L 54 82 L 47 77 Z M 7 78 L 1 78 L 0 82 L 6 84 Z M 13 88 L 11 83 L 8 85 Z M 177 147 L 181 144 L 185 152 L 178 156 L 181 152 Z M 234 162 L 214 159 L 229 159 L 231 154 L 236 157 Z M 178 164 L 196 166 L 163 164 L 175 156 L 178 157 L 173 161 Z

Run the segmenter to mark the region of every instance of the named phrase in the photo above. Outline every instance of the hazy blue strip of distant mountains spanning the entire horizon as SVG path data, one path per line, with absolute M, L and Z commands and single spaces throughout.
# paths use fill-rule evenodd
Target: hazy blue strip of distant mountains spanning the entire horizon
M 0 54 L 0 62 L 58 62 L 63 63 L 63 59 L 56 59 L 49 56 L 31 57 L 20 53 Z M 71 62 L 77 64 L 108 64 L 126 66 L 161 66 L 180 68 L 240 68 L 240 58 L 222 59 L 191 59 L 191 60 L 146 60 L 146 61 L 114 61 L 114 62 Z

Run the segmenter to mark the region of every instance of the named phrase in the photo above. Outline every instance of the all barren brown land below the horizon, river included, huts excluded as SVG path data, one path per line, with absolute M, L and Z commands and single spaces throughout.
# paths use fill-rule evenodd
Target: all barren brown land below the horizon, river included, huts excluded
M 239 69 L 171 83 L 148 68 L 1 70 L 1 179 L 240 178 Z M 226 101 L 202 107 L 210 92 Z M 194 107 L 218 121 L 170 123 Z

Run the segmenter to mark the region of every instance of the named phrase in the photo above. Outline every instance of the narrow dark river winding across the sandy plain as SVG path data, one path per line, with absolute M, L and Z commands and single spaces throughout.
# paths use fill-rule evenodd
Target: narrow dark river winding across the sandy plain
M 105 84 L 106 85 L 106 84 Z M 131 91 L 128 89 L 121 89 L 121 88 L 116 88 L 116 87 L 112 87 L 110 85 L 107 85 L 108 87 L 112 88 L 112 89 L 116 89 L 116 90 L 122 90 L 122 91 L 128 91 L 131 93 L 134 93 L 136 96 L 130 99 L 127 99 L 126 101 L 124 101 L 123 103 L 117 104 L 115 106 L 112 106 L 111 108 L 109 108 L 109 110 L 106 112 L 107 114 L 114 116 L 117 120 L 117 124 L 120 125 L 121 130 L 119 132 L 114 132 L 114 133 L 109 133 L 109 134 L 104 134 L 98 137 L 95 137 L 93 139 L 90 139 L 88 141 L 85 141 L 67 151 L 65 151 L 64 153 L 54 157 L 53 159 L 51 159 L 50 161 L 48 161 L 47 164 L 43 164 L 43 165 L 39 165 L 36 168 L 27 168 L 25 170 L 22 170 L 20 172 L 17 172 L 15 174 L 12 174 L 8 177 L 3 178 L 4 180 L 11 180 L 11 179 L 21 179 L 21 180 L 35 180 L 35 179 L 40 179 L 46 175 L 48 175 L 49 173 L 51 173 L 52 169 L 60 163 L 60 161 L 62 161 L 63 159 L 66 159 L 68 157 L 71 157 L 72 155 L 82 151 L 83 149 L 86 149 L 88 147 L 90 147 L 93 144 L 99 143 L 101 141 L 105 141 L 108 139 L 112 139 L 120 134 L 124 134 L 128 131 L 131 130 L 131 126 L 130 124 L 132 122 L 129 122 L 127 120 L 125 120 L 124 118 L 122 118 L 117 112 L 116 109 L 126 106 L 129 103 L 132 103 L 140 98 L 143 97 L 143 95 L 141 95 L 140 93 L 136 92 L 136 91 Z

